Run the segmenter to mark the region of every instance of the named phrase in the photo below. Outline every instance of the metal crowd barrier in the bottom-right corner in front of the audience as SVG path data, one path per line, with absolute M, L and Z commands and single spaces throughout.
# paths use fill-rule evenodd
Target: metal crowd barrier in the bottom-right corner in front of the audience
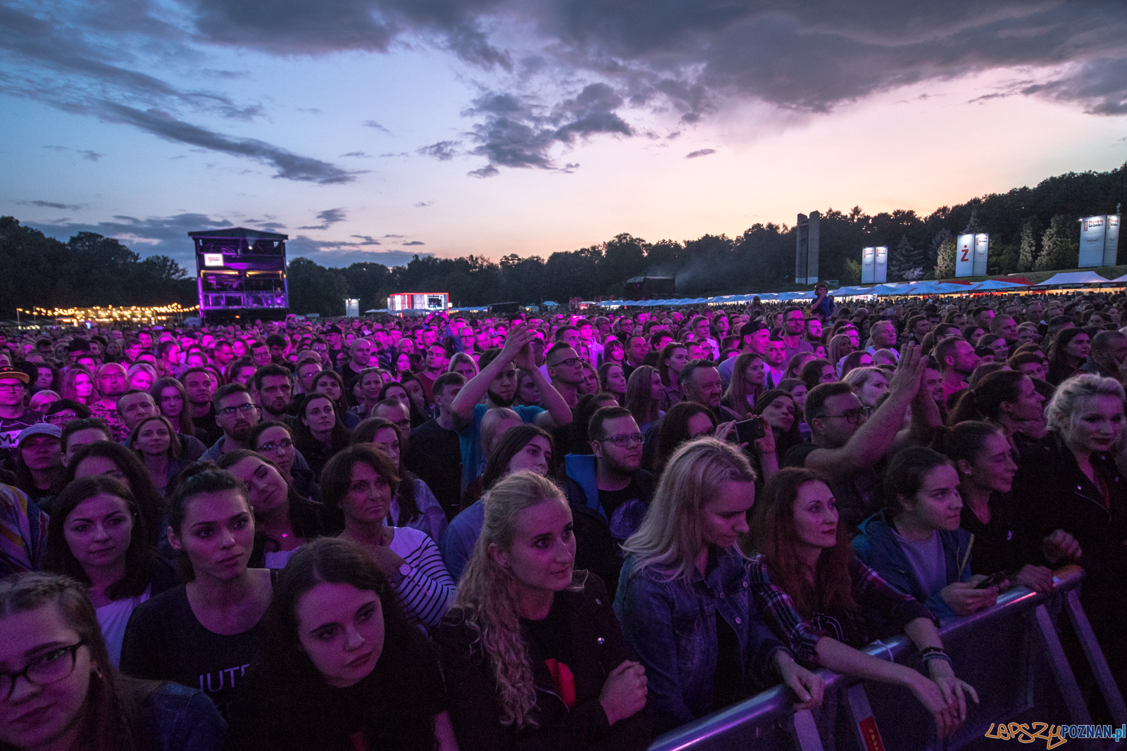
M 1019 740 L 1014 733 L 1013 740 L 1005 741 L 987 737 L 987 733 L 999 723 L 1026 723 L 1030 733 L 1036 733 L 1039 725 L 1035 723 L 1051 730 L 1093 722 L 1057 633 L 1065 617 L 1072 628 L 1062 632 L 1075 634 L 1115 727 L 1125 725 L 1127 707 L 1080 605 L 1084 572 L 1066 566 L 1056 576 L 1058 583 L 1049 594 L 1015 587 L 999 597 L 995 607 L 956 619 L 940 631 L 957 674 L 974 686 L 982 699 L 980 705 L 968 701 L 967 719 L 950 739 L 937 737 L 931 715 L 907 689 L 822 670 L 826 690 L 817 713 L 793 712 L 795 698 L 775 687 L 659 736 L 650 751 L 1029 748 L 1024 745 L 1031 742 L 1029 734 Z M 905 636 L 875 643 L 864 651 L 922 669 L 919 653 Z M 999 735 L 996 730 L 994 735 Z M 1055 739 L 1045 745 L 1036 742 L 1035 749 L 1062 745 Z M 1070 751 L 1127 748 L 1127 741 L 1099 739 L 1067 737 L 1065 743 Z

